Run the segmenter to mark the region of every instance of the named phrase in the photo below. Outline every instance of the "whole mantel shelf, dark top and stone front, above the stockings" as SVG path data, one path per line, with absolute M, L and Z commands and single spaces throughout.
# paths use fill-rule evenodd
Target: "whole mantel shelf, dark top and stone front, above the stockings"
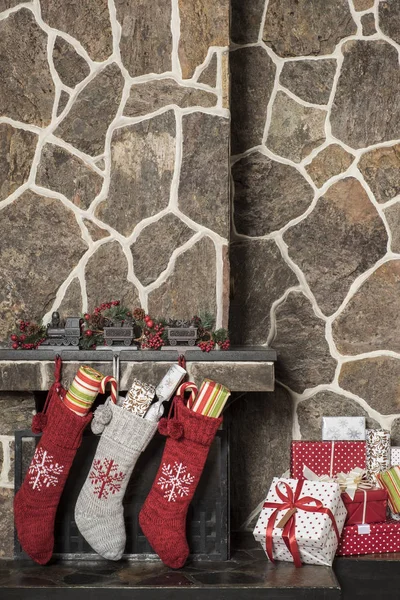
M 63 359 L 63 383 L 69 385 L 81 364 L 112 375 L 113 356 L 120 360 L 120 389 L 129 389 L 134 377 L 157 384 L 168 367 L 184 354 L 189 379 L 200 384 L 208 377 L 232 391 L 270 392 L 274 390 L 275 350 L 263 346 L 233 347 L 227 351 L 132 350 L 113 347 L 104 350 L 77 350 L 60 346 L 46 350 L 0 349 L 0 391 L 42 391 L 49 389 L 56 354 Z

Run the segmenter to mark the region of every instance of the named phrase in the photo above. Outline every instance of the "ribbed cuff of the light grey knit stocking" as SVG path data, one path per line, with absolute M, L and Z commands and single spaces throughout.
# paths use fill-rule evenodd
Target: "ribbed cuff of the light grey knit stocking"
M 103 437 L 119 444 L 143 452 L 154 436 L 158 423 L 138 417 L 126 408 L 110 402 L 112 418 L 106 425 Z

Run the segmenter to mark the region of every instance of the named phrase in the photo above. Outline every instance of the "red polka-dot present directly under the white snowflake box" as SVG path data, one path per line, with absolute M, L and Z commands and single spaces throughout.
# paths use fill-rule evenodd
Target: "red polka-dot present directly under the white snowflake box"
M 292 442 L 290 472 L 293 479 L 304 477 L 304 466 L 318 477 L 336 477 L 338 473 L 347 473 L 355 467 L 365 469 L 366 464 L 365 441 Z

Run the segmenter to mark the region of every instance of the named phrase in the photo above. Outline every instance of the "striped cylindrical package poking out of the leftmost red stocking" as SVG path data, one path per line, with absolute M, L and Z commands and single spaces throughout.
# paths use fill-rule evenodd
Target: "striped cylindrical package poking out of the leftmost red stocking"
M 77 415 L 84 417 L 90 410 L 97 394 L 100 391 L 103 373 L 86 365 L 79 367 L 73 382 L 71 383 L 64 403 Z

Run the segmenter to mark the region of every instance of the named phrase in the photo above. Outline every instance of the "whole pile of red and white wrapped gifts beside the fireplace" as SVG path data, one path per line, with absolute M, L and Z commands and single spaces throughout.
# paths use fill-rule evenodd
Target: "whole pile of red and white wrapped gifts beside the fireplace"
M 290 478 L 273 480 L 255 539 L 272 562 L 296 566 L 399 552 L 400 447 L 364 417 L 322 422 L 322 441 L 292 442 Z

